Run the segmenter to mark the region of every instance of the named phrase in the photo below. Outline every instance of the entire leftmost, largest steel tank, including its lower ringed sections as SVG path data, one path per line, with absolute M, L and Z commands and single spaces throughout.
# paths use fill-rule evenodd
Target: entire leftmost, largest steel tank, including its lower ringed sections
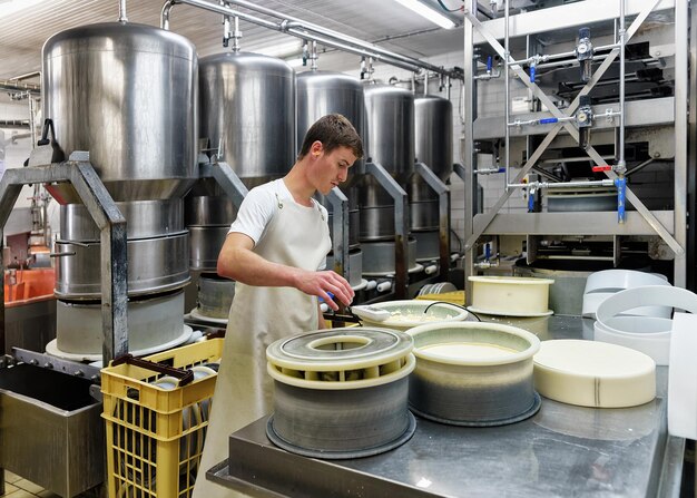
M 89 152 L 126 217 L 131 351 L 171 348 L 192 333 L 181 313 L 180 289 L 189 282 L 181 197 L 198 178 L 197 75 L 195 47 L 149 26 L 90 25 L 43 46 L 45 117 L 66 154 Z M 100 358 L 99 231 L 72 186 L 50 192 L 61 204 L 56 294 L 62 312 L 47 351 Z

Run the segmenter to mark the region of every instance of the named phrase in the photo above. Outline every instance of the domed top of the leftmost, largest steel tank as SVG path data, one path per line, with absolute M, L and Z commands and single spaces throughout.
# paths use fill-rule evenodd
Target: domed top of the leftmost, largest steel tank
M 67 29 L 43 43 L 43 57 L 84 51 L 153 52 L 196 60 L 196 47 L 180 35 L 147 25 L 101 22 Z

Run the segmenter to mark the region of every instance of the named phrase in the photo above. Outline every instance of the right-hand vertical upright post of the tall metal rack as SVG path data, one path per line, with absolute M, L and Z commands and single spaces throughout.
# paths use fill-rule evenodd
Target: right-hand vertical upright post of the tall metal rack
M 681 247 L 687 243 L 687 137 L 688 137 L 688 95 L 689 79 L 687 64 L 689 37 L 688 2 L 675 3 L 675 238 Z M 695 27 L 695 25 L 693 25 Z M 694 37 L 693 32 L 693 37 Z M 694 70 L 694 69 L 691 69 Z M 694 116 L 690 116 L 694 119 Z M 690 137 L 690 138 L 694 138 Z M 693 225 L 695 219 L 693 219 Z M 694 244 L 694 240 L 690 241 Z M 675 255 L 674 285 L 686 286 L 687 262 L 685 253 Z

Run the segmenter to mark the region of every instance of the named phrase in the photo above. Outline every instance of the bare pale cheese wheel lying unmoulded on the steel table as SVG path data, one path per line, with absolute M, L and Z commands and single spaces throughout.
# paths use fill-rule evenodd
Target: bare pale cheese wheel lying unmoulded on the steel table
M 625 408 L 656 397 L 654 360 L 621 345 L 572 339 L 542 341 L 533 363 L 536 390 L 562 403 Z

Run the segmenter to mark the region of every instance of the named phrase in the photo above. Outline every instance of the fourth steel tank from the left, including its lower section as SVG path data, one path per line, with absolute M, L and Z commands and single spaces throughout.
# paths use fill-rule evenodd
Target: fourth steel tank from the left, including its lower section
M 402 187 L 414 170 L 414 96 L 391 85 L 366 85 L 366 157 Z M 359 180 L 361 242 L 394 238 L 394 201 L 372 176 Z

